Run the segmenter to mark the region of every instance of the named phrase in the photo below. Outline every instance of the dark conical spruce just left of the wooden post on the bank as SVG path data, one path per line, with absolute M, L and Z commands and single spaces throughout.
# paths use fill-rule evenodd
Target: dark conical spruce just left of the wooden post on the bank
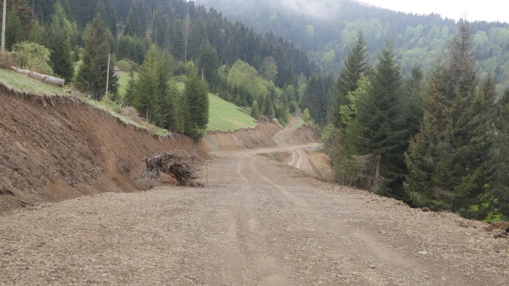
M 106 92 L 106 75 L 108 67 L 108 31 L 104 28 L 100 15 L 97 15 L 89 26 L 83 50 L 83 63 L 76 75 L 76 87 L 92 94 L 95 100 L 101 100 Z M 108 91 L 116 94 L 118 78 L 115 76 L 111 61 L 109 70 Z

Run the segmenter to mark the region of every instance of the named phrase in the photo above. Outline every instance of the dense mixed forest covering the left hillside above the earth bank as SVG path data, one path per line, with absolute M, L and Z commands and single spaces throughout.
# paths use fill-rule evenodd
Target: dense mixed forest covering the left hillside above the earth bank
M 14 0 L 6 46 L 21 68 L 60 76 L 104 104 L 193 137 L 209 92 L 285 124 L 313 71 L 290 41 L 184 0 Z M 105 96 L 108 53 L 112 54 Z M 113 67 L 129 74 L 121 85 Z M 126 75 L 124 75 L 126 76 Z M 119 92 L 122 91 L 122 92 Z M 120 110 L 120 107 L 116 107 Z

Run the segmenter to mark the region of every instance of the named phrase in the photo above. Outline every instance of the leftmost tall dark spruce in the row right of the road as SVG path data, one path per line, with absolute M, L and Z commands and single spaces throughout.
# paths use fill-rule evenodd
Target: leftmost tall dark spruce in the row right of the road
M 367 46 L 364 34 L 359 31 L 357 39 L 345 59 L 345 66 L 337 78 L 334 91 L 332 93 L 332 104 L 330 110 L 330 122 L 335 128 L 343 127 L 343 121 L 340 116 L 341 106 L 348 106 L 347 94 L 357 89 L 357 82 L 361 74 L 369 70 L 369 60 L 367 59 Z

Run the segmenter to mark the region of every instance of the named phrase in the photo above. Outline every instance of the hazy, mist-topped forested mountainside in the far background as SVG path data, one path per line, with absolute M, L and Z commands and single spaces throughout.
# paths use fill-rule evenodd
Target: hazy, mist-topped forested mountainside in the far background
M 364 31 L 372 62 L 392 33 L 397 54 L 401 57 L 402 71 L 406 75 L 415 65 L 429 71 L 445 49 L 446 40 L 458 30 L 455 20 L 437 14 L 407 14 L 348 0 L 337 2 L 335 6 L 329 5 L 329 2 L 316 4 L 319 8 L 312 12 L 306 9 L 309 7 L 292 7 L 293 2 L 197 2 L 214 7 L 228 18 L 241 21 L 259 33 L 272 31 L 276 36 L 290 39 L 323 72 L 333 72 L 335 75 L 342 68 L 359 30 Z M 502 91 L 509 85 L 509 24 L 475 21 L 470 28 L 474 31 L 478 60 L 476 71 L 482 78 L 491 73 L 498 84 L 498 91 Z

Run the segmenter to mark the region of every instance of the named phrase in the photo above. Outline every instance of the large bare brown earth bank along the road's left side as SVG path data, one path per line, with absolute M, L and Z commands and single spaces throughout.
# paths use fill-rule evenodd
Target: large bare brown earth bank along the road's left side
M 0 212 L 135 190 L 130 176 L 144 169 L 144 158 L 200 149 L 186 136 L 152 136 L 72 97 L 21 94 L 2 86 L 0 105 Z

